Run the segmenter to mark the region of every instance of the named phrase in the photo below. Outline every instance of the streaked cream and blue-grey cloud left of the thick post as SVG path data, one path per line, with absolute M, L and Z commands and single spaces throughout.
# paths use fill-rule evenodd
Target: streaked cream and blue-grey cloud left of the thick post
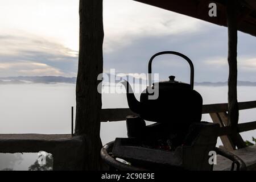
M 0 36 L 0 76 L 76 76 L 78 53 L 34 35 Z

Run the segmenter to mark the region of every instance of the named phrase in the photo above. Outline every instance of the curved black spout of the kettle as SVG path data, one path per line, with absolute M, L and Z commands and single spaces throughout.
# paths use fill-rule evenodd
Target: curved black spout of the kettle
M 136 99 L 136 97 L 133 93 L 133 89 L 131 88 L 131 85 L 126 80 L 122 81 L 121 84 L 123 84 L 123 86 L 125 86 L 127 101 L 128 101 L 128 105 L 129 105 L 131 111 L 133 111 L 134 113 L 140 114 L 141 107 L 142 107 L 141 102 L 139 102 Z

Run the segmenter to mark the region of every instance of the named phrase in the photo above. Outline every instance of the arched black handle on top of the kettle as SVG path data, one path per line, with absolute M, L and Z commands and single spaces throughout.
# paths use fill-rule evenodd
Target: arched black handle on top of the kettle
M 148 84 L 149 84 L 149 86 L 152 85 L 152 76 L 151 76 L 151 73 L 152 73 L 152 61 L 153 61 L 153 59 L 156 56 L 165 55 L 165 54 L 171 54 L 171 55 L 180 56 L 180 57 L 182 57 L 183 59 L 185 59 L 188 62 L 189 66 L 190 66 L 190 85 L 191 85 L 191 88 L 193 90 L 193 88 L 194 88 L 194 65 L 193 65 L 191 59 L 189 59 L 187 56 L 183 55 L 182 53 L 175 52 L 175 51 L 158 52 L 158 53 L 156 53 L 155 55 L 153 55 L 150 58 L 150 61 L 148 62 Z

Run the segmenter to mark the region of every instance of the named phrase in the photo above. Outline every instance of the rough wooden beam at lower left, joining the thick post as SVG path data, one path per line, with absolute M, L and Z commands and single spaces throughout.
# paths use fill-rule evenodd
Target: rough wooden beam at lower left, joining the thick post
M 53 156 L 53 170 L 82 170 L 85 153 L 84 138 L 70 134 L 0 134 L 0 152 L 46 151 Z M 36 160 L 36 159 L 35 159 Z

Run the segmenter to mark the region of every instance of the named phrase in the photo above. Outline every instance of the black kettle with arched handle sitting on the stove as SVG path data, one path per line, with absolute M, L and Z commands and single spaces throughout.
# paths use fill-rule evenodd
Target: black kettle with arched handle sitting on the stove
M 190 84 L 176 81 L 175 76 L 170 76 L 168 81 L 151 83 L 152 60 L 164 54 L 177 55 L 187 60 L 191 68 Z M 126 88 L 128 105 L 134 113 L 146 121 L 179 126 L 201 121 L 203 98 L 193 90 L 194 67 L 187 56 L 174 51 L 156 53 L 148 63 L 148 73 L 149 85 L 142 92 L 140 102 L 135 98 L 129 82 L 122 82 Z

